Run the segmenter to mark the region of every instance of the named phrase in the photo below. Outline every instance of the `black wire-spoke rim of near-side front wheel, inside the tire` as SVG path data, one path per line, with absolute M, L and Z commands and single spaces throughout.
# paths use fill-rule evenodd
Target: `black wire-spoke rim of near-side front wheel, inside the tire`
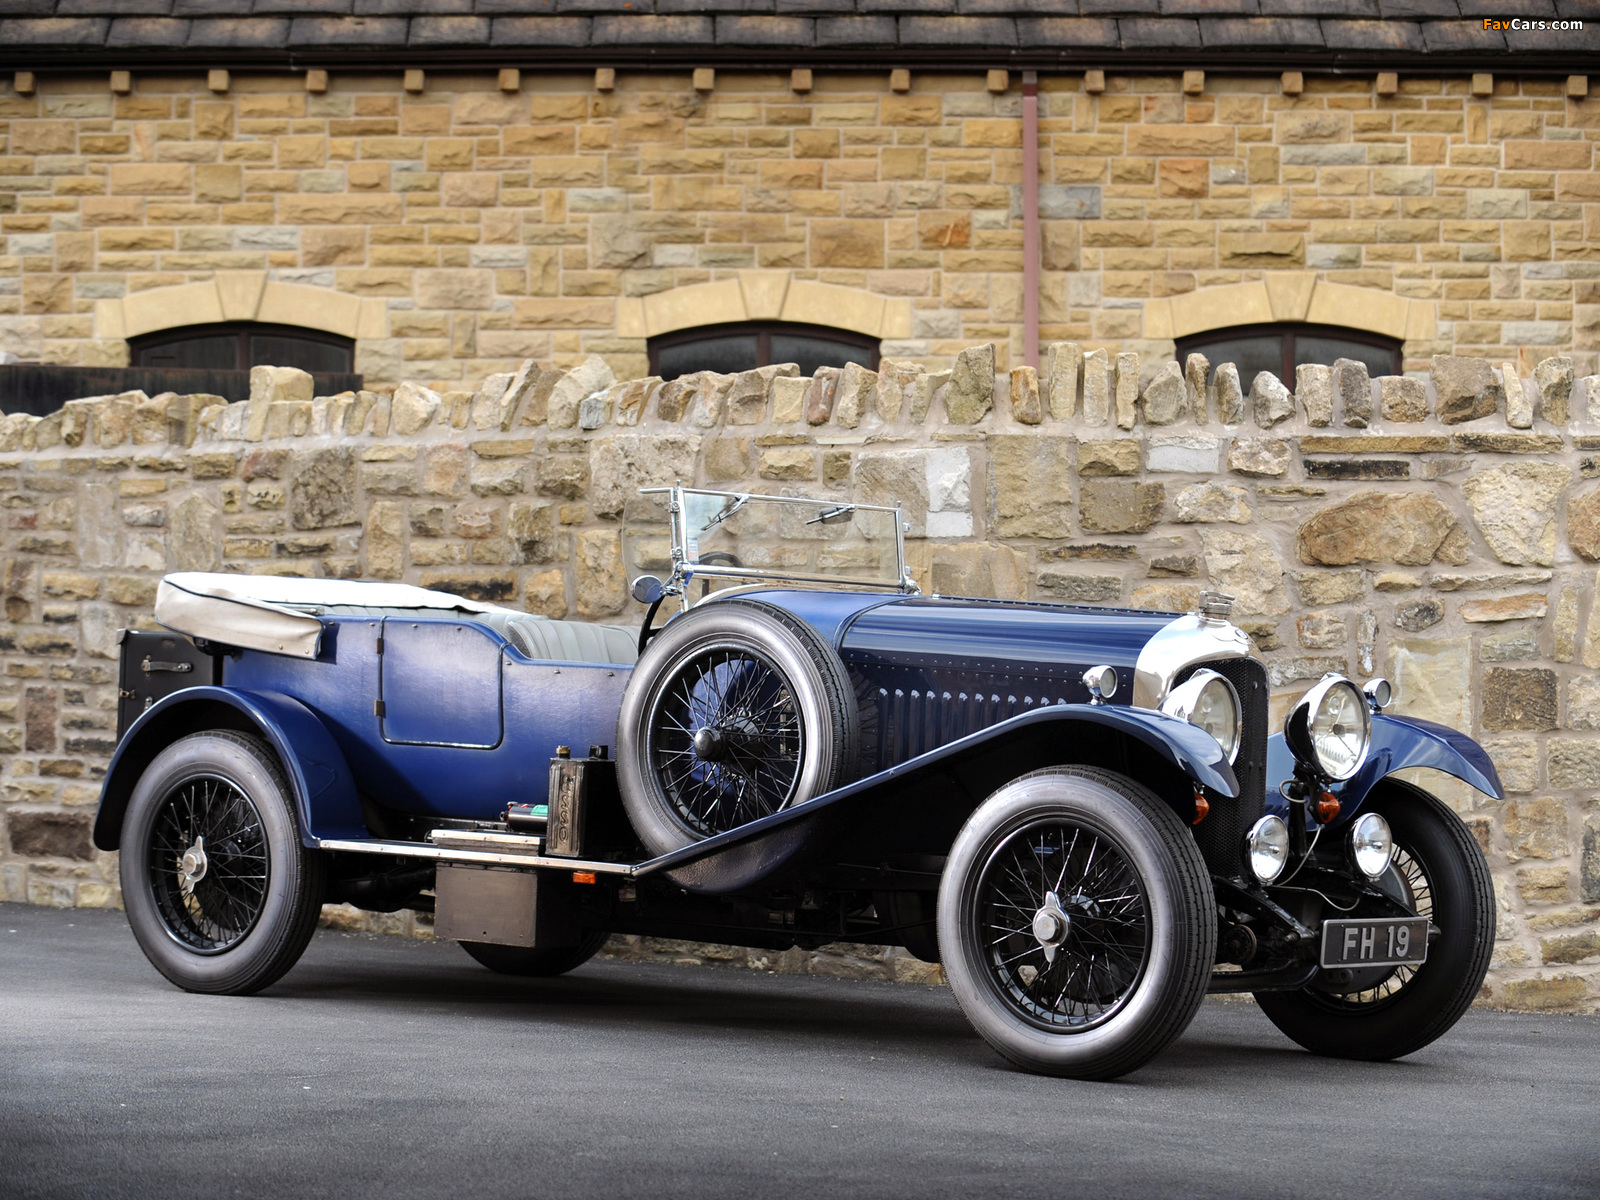
M 1115 1016 L 1150 954 L 1144 882 L 1107 834 L 1075 821 L 1038 821 L 1000 842 L 974 917 L 994 987 L 1053 1032 Z

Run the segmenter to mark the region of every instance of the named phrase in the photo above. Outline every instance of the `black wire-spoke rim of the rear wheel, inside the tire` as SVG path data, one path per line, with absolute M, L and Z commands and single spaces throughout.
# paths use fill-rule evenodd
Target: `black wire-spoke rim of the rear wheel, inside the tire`
M 267 834 L 234 781 L 198 774 L 171 787 L 157 805 L 146 861 L 155 910 L 184 949 L 221 954 L 261 918 Z

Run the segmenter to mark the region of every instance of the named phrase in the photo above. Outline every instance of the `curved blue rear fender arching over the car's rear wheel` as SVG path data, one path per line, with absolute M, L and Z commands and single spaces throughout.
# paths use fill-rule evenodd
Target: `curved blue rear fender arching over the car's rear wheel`
M 101 786 L 94 845 L 117 850 L 128 798 L 155 755 L 190 733 L 219 728 L 254 733 L 277 752 L 307 846 L 318 838 L 371 837 L 349 763 L 317 714 L 280 693 L 200 686 L 174 691 L 128 726 Z

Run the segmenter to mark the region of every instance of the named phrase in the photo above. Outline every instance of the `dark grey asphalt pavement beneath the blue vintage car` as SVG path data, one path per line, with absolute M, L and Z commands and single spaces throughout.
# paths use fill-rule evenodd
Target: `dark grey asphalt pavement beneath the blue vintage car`
M 0 904 L 0 1195 L 1594 1197 L 1600 1019 L 1469 1013 L 1317 1059 L 1208 1002 L 1112 1083 L 1024 1075 L 946 989 L 595 960 L 506 979 L 318 933 L 187 995 L 117 912 Z

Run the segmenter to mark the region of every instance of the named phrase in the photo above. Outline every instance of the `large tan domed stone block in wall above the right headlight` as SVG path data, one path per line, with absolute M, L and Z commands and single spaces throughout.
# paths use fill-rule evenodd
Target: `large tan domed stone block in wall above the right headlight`
M 1456 515 L 1426 491 L 1363 491 L 1333 504 L 1301 525 L 1294 549 L 1302 563 L 1322 566 L 1467 558 Z

